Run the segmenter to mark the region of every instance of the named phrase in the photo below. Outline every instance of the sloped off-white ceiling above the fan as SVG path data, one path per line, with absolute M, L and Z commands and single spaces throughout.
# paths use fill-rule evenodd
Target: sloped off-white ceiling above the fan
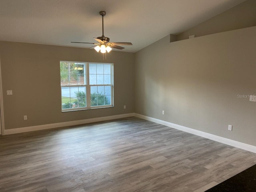
M 136 52 L 244 0 L 0 0 L 0 40 L 89 48 L 102 35 Z

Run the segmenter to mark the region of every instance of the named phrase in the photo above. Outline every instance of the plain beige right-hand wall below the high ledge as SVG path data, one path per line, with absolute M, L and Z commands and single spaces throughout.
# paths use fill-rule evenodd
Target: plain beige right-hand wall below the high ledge
M 135 56 L 135 112 L 256 146 L 256 26 L 169 43 Z M 165 115 L 162 115 L 165 110 Z M 228 131 L 228 125 L 233 131 Z

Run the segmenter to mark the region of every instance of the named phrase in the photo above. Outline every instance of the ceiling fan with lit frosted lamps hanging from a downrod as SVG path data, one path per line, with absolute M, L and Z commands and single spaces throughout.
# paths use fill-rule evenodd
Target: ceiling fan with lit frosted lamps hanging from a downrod
M 124 49 L 120 45 L 132 45 L 130 42 L 109 42 L 109 38 L 104 36 L 104 16 L 106 15 L 105 11 L 100 11 L 100 15 L 102 16 L 102 36 L 94 38 L 98 43 L 86 43 L 86 44 L 94 44 L 94 46 L 90 48 L 94 48 L 97 52 L 106 53 L 110 52 L 112 48 L 114 49 Z M 85 42 L 71 42 L 71 43 L 85 43 Z

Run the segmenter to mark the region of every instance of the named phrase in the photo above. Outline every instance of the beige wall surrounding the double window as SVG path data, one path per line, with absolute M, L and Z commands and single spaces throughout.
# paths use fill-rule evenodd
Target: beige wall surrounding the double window
M 0 42 L 0 58 L 5 129 L 134 112 L 134 53 L 112 51 L 103 60 L 92 49 Z M 61 112 L 60 60 L 114 63 L 114 107 Z

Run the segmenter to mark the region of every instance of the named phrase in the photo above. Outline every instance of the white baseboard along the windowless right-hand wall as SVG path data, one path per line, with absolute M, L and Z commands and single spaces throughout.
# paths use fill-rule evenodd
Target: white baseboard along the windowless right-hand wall
M 216 136 L 216 135 L 213 135 L 213 134 L 198 131 L 198 130 L 195 130 L 195 129 L 192 129 L 192 128 L 184 127 L 184 126 L 181 126 L 181 125 L 177 125 L 177 124 L 174 124 L 174 123 L 166 122 L 166 121 L 163 121 L 163 120 L 159 120 L 159 119 L 156 119 L 156 118 L 144 116 L 144 115 L 137 114 L 137 113 L 135 113 L 134 116 L 138 117 L 138 118 L 142 118 L 144 120 L 152 121 L 152 122 L 155 122 L 155 123 L 158 123 L 158 124 L 161 124 L 161 125 L 165 125 L 165 126 L 168 126 L 168 127 L 174 128 L 174 129 L 178 129 L 178 130 L 181 130 L 181 131 L 184 131 L 184 132 L 188 132 L 188 133 L 191 133 L 191 134 L 194 134 L 194 135 L 197 135 L 197 136 L 201 136 L 201 137 L 204 137 L 204 138 L 207 138 L 207 139 L 210 139 L 210 140 L 214 140 L 214 141 L 217 141 L 217 142 L 220 142 L 220 143 L 224 143 L 224 144 L 227 144 L 227 145 L 230 145 L 230 146 L 233 146 L 233 147 L 244 149 L 246 151 L 256 153 L 256 146 L 252 146 L 252 145 L 249 145 L 249 144 L 234 141 L 234 140 L 231 140 L 231 139 Z

